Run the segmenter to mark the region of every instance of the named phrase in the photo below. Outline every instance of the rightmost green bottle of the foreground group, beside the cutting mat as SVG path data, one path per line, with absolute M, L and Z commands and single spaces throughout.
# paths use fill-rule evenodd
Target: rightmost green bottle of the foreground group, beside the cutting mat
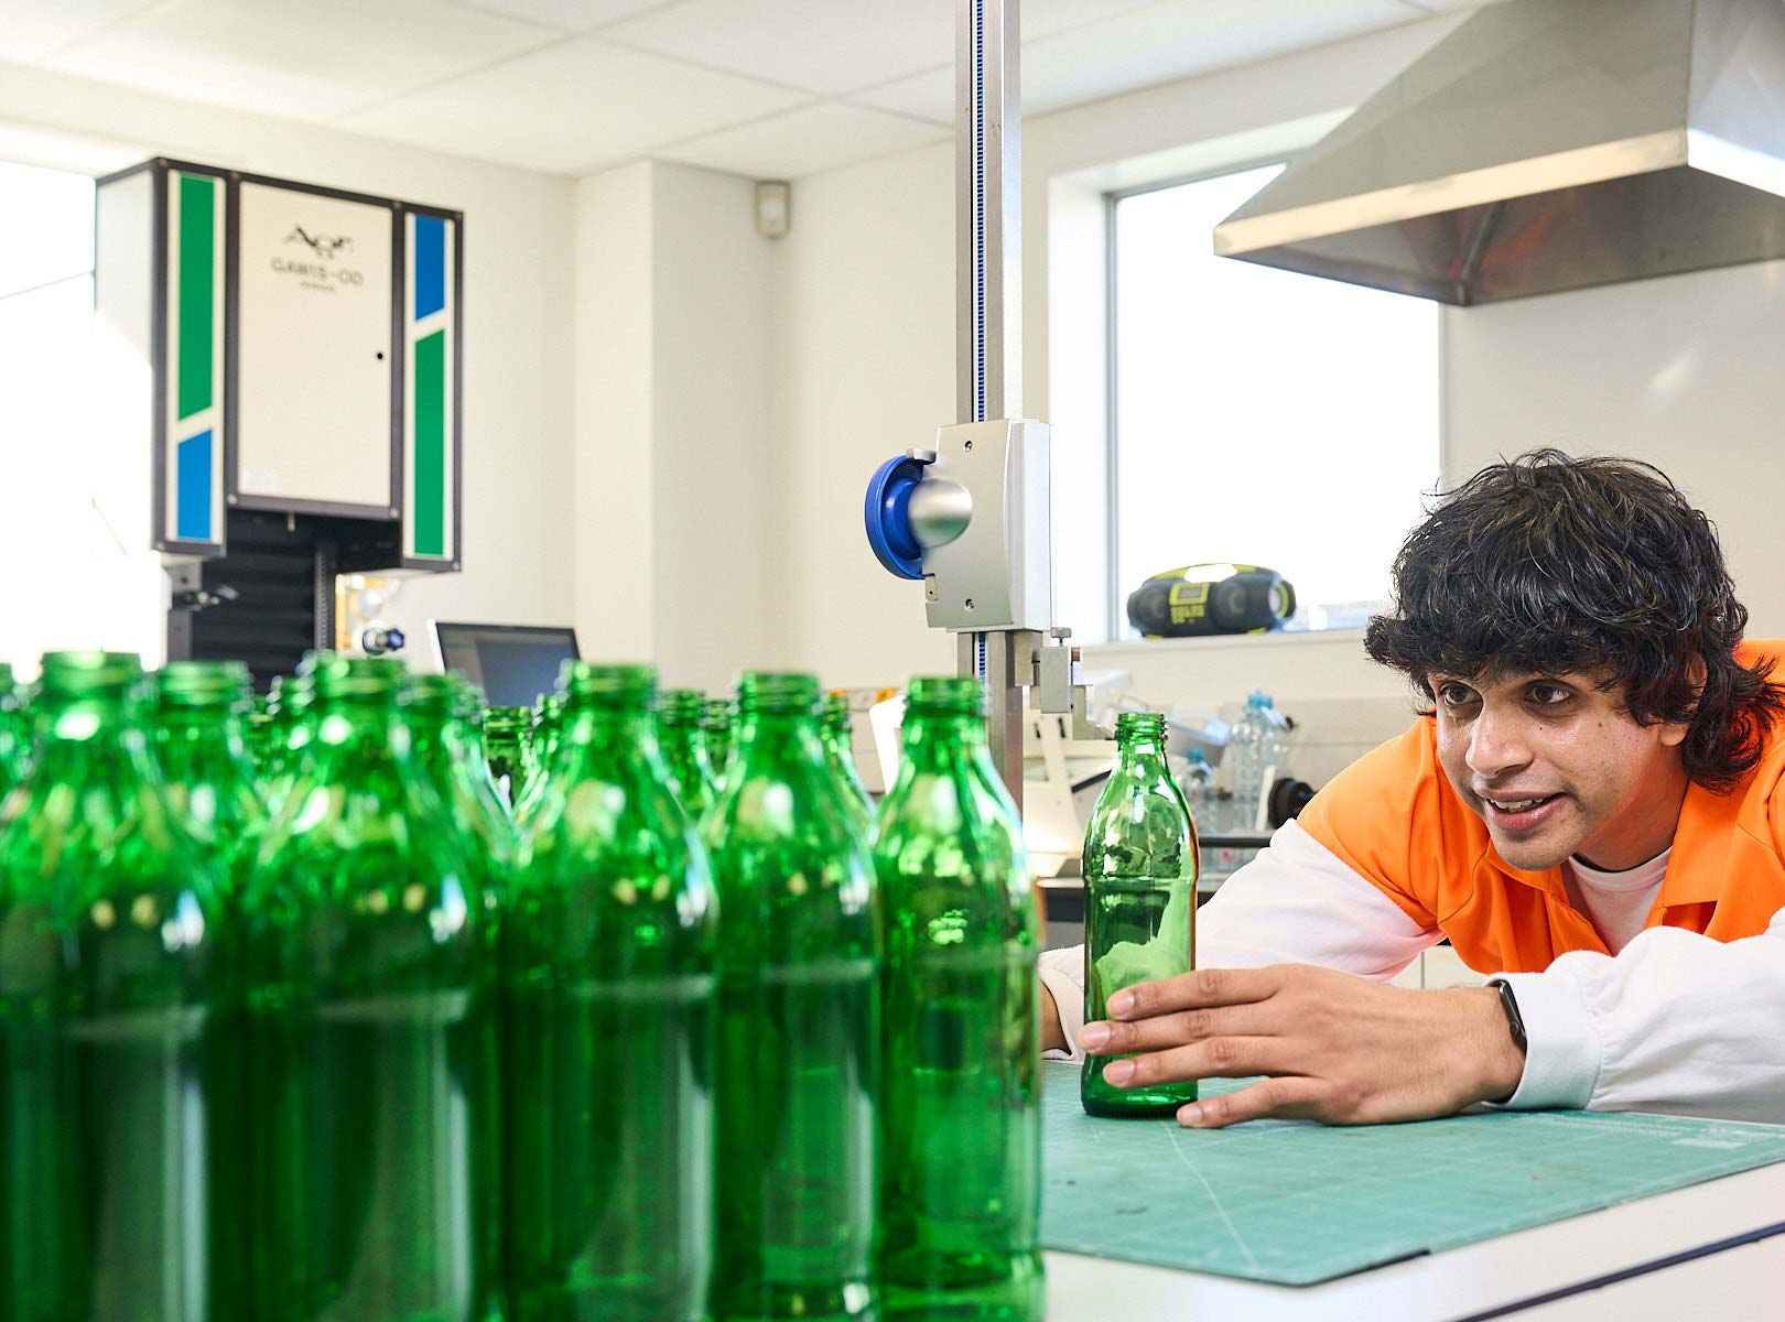
M 975 678 L 919 678 L 880 803 L 880 1317 L 1039 1322 L 1041 915 Z

